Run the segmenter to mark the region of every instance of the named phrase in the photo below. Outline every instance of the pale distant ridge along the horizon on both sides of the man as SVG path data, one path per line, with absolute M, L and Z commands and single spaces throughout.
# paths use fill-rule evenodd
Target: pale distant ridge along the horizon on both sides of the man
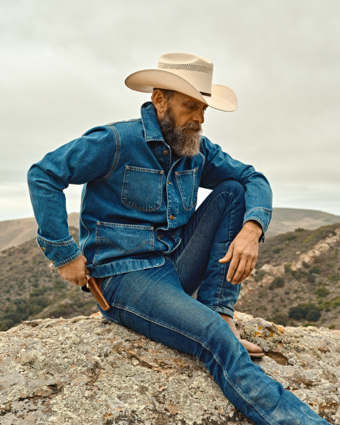
M 316 210 L 274 208 L 266 236 L 276 236 L 297 228 L 313 230 L 334 223 L 340 223 L 340 216 Z M 79 227 L 79 213 L 68 214 L 68 225 Z M 36 230 L 34 217 L 0 221 L 0 251 L 35 238 Z

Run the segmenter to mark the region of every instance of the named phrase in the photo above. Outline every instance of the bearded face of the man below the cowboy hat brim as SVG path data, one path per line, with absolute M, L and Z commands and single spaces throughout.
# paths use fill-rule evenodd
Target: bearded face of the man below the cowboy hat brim
M 198 155 L 206 108 L 207 105 L 200 100 L 178 92 L 166 102 L 159 123 L 165 141 L 175 154 Z

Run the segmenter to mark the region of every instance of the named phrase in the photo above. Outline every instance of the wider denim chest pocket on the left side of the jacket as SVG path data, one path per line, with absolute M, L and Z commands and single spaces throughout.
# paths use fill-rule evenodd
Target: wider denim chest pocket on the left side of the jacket
M 164 171 L 125 167 L 122 202 L 139 211 L 155 211 L 162 203 Z

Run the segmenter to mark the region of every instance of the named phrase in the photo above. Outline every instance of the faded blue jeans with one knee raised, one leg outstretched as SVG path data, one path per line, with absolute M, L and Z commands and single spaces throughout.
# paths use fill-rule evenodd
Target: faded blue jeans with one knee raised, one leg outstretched
M 233 316 L 240 285 L 226 281 L 222 258 L 242 227 L 244 188 L 221 183 L 181 230 L 161 267 L 105 278 L 107 320 L 203 361 L 226 397 L 255 424 L 327 422 L 253 363 L 219 313 Z M 190 295 L 197 289 L 197 300 Z

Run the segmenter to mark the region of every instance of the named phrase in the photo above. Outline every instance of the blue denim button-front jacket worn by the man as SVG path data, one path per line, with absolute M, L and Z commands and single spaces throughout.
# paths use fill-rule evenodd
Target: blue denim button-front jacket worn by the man
M 83 254 L 94 277 L 158 267 L 180 244 L 197 203 L 198 187 L 232 179 L 245 186 L 244 223 L 263 229 L 272 215 L 265 176 L 201 138 L 193 158 L 171 154 L 151 102 L 141 118 L 95 127 L 32 165 L 28 184 L 38 245 L 54 267 Z M 83 185 L 80 247 L 68 233 L 63 190 Z

